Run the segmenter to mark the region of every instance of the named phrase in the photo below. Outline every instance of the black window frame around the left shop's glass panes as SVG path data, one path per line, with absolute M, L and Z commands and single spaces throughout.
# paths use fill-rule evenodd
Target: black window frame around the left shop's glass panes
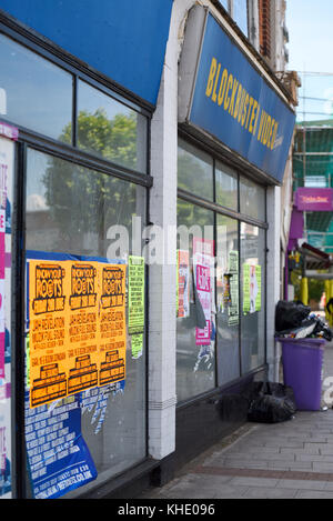
M 29 51 L 58 66 L 65 72 L 71 73 L 73 81 L 72 89 L 72 143 L 64 143 L 43 136 L 29 128 L 24 128 L 10 119 L 0 116 L 0 119 L 19 130 L 19 138 L 16 143 L 16 164 L 13 179 L 13 207 L 12 207 L 12 341 L 11 341 L 11 452 L 12 452 L 12 494 L 17 499 L 27 499 L 29 495 L 30 482 L 27 479 L 27 451 L 26 451 L 26 189 L 27 189 L 27 153 L 28 148 L 39 152 L 53 156 L 78 166 L 119 178 L 130 183 L 142 186 L 147 189 L 145 208 L 143 210 L 145 221 L 150 221 L 149 213 L 149 189 L 153 186 L 153 178 L 150 171 L 150 136 L 151 119 L 154 107 L 145 100 L 125 90 L 110 78 L 99 73 L 83 62 L 75 59 L 64 50 L 58 48 L 48 39 L 39 36 L 33 30 L 16 22 L 11 17 L 6 16 L 0 10 L 0 32 L 21 44 Z M 100 90 L 104 94 L 121 102 L 125 107 L 147 117 L 147 150 L 145 150 L 145 172 L 139 172 L 130 168 L 122 167 L 109 160 L 80 150 L 77 147 L 77 116 L 78 116 L 78 81 L 82 80 L 89 86 Z M 145 324 L 144 335 L 147 354 L 144 363 L 144 402 L 148 408 L 149 399 L 149 269 L 145 267 Z M 145 457 L 149 455 L 149 419 L 148 409 L 144 419 L 144 444 Z M 137 462 L 134 465 L 139 464 Z M 130 471 L 130 469 L 129 469 Z M 113 479 L 113 478 L 112 478 Z M 103 483 L 97 488 L 103 487 Z M 83 495 L 82 495 L 83 494 Z M 84 497 L 78 489 L 77 498 Z

